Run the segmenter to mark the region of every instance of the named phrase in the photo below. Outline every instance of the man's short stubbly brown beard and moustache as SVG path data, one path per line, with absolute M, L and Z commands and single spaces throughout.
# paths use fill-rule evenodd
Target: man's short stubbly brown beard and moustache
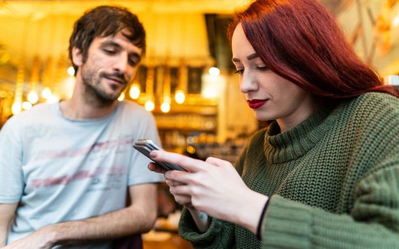
M 98 76 L 90 70 L 84 70 L 82 68 L 82 80 L 84 84 L 84 95 L 86 101 L 90 104 L 96 104 L 98 106 L 110 106 L 112 105 L 119 97 L 121 92 L 125 89 L 123 88 L 117 94 L 109 94 L 101 87 L 101 79 L 105 76 L 112 76 L 114 78 L 121 79 L 126 87 L 126 80 L 122 74 L 114 73 L 112 75 L 107 75 L 105 73 L 100 73 Z M 112 88 L 116 88 L 116 86 L 111 86 Z

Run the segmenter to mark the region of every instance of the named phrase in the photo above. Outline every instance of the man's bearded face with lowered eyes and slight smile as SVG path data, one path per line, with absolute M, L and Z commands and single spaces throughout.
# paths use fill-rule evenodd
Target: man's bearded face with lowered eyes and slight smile
M 80 68 L 87 97 L 113 103 L 135 75 L 142 49 L 123 35 L 127 32 L 123 29 L 115 36 L 93 39 Z

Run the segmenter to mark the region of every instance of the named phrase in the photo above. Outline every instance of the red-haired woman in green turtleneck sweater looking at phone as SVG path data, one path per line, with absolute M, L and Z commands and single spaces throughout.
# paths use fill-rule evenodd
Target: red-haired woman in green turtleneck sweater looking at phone
M 165 173 L 186 206 L 183 238 L 195 248 L 397 248 L 398 90 L 316 0 L 257 0 L 229 34 L 240 90 L 272 122 L 235 168 L 152 152 L 189 171 Z

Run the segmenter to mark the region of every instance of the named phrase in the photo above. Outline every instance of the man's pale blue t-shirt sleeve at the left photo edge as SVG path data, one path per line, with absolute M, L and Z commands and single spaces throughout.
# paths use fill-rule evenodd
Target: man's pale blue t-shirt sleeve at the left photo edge
M 0 203 L 19 202 L 23 187 L 22 141 L 12 118 L 0 130 Z

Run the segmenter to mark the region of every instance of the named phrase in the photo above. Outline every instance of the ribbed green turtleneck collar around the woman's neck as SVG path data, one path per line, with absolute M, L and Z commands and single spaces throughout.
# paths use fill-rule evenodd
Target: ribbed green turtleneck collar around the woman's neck
M 321 110 L 282 133 L 277 122 L 272 122 L 265 132 L 263 144 L 266 162 L 285 163 L 304 155 L 329 131 L 341 108 L 342 106 L 333 111 Z

